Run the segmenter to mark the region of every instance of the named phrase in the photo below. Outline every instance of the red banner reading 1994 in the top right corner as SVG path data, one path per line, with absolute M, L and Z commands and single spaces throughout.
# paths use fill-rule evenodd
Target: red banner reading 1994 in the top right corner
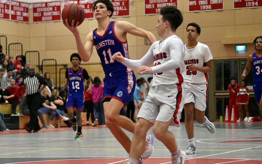
M 233 0 L 234 9 L 261 8 L 262 0 Z

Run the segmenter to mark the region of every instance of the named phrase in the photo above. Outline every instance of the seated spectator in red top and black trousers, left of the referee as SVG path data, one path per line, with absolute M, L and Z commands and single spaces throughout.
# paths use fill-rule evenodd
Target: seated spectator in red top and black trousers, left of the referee
M 10 83 L 11 86 L 7 87 L 7 89 L 4 91 L 3 99 L 5 100 L 5 103 L 7 101 L 10 104 L 12 104 L 11 116 L 17 116 L 18 113 L 16 113 L 16 107 L 18 105 L 19 97 L 20 97 L 19 88 L 16 87 L 16 81 L 14 78 L 10 80 Z

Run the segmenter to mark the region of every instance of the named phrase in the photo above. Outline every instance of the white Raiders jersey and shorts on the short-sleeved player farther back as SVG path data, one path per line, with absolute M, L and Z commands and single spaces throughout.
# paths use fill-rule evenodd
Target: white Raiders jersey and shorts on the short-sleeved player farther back
M 187 49 L 185 45 L 185 57 L 182 61 L 185 104 L 194 103 L 194 107 L 200 111 L 206 110 L 208 95 L 208 73 L 200 71 L 190 71 L 189 61 L 195 66 L 203 67 L 205 62 L 213 59 L 212 53 L 207 45 L 198 42 L 193 49 Z

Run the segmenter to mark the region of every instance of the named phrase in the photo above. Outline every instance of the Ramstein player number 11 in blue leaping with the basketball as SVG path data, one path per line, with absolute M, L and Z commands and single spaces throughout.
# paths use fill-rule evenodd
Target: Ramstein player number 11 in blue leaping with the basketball
M 127 117 L 119 115 L 119 111 L 124 104 L 128 103 L 134 93 L 136 78 L 130 68 L 118 61 L 114 61 L 112 55 L 121 52 L 124 57 L 129 58 L 127 33 L 147 38 L 151 44 L 156 41 L 156 38 L 153 33 L 140 29 L 126 21 L 110 21 L 109 18 L 113 15 L 114 8 L 109 0 L 94 1 L 93 9 L 98 28 L 88 33 L 85 45 L 82 43 L 77 29 L 78 23 L 75 26 L 73 24 L 69 26 L 66 20 L 63 24 L 74 34 L 77 51 L 83 61 L 90 59 L 93 46 L 95 46 L 105 72 L 103 94 L 105 122 L 115 138 L 129 153 L 131 140 L 121 128 L 134 133 L 135 124 Z M 152 145 L 151 139 L 153 138 L 147 135 L 147 139 L 149 140 L 147 142 L 149 144 L 146 143 L 148 149 L 145 149 L 143 158 L 147 158 L 152 154 L 153 148 L 150 145 Z

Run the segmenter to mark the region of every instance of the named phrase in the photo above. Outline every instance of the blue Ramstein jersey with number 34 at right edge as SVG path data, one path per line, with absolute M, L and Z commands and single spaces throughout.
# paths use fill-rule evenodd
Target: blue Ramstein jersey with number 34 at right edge
M 254 82 L 262 81 L 262 57 L 257 56 L 257 52 L 252 54 L 252 65 L 254 70 Z

